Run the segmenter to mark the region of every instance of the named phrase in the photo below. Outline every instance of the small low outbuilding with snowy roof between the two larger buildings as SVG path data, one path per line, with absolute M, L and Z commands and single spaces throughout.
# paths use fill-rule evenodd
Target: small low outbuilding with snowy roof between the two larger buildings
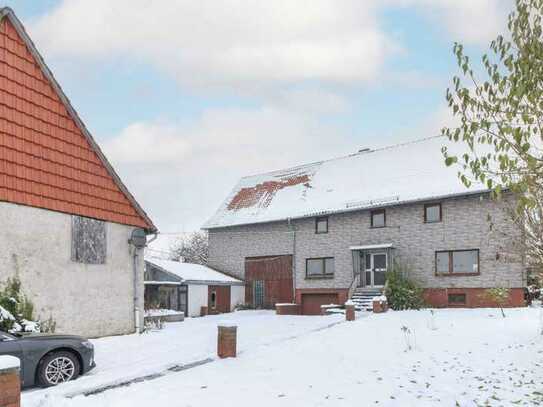
M 185 316 L 231 312 L 245 302 L 245 283 L 200 264 L 145 259 L 145 308 L 181 311 Z

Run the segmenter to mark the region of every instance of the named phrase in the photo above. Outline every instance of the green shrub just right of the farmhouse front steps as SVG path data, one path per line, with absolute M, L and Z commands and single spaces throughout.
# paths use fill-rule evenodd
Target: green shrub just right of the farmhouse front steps
M 420 309 L 424 306 L 422 288 L 407 275 L 407 268 L 397 263 L 394 263 L 392 270 L 387 273 L 385 295 L 393 310 Z

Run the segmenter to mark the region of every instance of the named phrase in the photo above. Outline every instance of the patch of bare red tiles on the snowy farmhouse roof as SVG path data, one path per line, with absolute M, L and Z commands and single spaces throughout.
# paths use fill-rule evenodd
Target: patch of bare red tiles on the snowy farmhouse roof
M 228 204 L 229 211 L 243 208 L 267 208 L 275 194 L 288 187 L 303 185 L 305 189 L 311 188 L 311 177 L 314 171 L 308 168 L 298 171 L 288 171 L 275 175 L 278 180 L 264 181 L 253 187 L 241 188 Z

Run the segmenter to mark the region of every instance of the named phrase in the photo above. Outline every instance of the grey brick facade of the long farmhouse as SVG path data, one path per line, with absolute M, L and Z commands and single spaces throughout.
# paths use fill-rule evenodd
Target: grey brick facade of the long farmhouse
M 210 229 L 209 265 L 244 278 L 246 257 L 291 254 L 299 303 L 301 290 L 334 292 L 350 287 L 350 246 L 391 243 L 394 258 L 409 267 L 410 278 L 422 287 L 521 289 L 526 285 L 523 256 L 515 247 L 521 235 L 507 213 L 514 206 L 512 197 L 495 201 L 478 194 L 438 202 L 442 204 L 438 223 L 424 222 L 421 202 L 387 207 L 386 227 L 379 229 L 370 227 L 369 210 L 330 215 L 324 234 L 315 234 L 315 218 Z M 461 249 L 479 249 L 479 275 L 437 276 L 435 252 Z M 306 259 L 312 257 L 334 257 L 334 277 L 306 279 Z

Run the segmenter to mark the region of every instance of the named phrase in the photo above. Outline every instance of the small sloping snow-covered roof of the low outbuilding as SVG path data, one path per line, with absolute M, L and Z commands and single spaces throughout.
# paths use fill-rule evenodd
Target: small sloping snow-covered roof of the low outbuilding
M 181 263 L 179 261 L 162 260 L 155 258 L 145 258 L 145 261 L 151 263 L 158 268 L 176 275 L 181 278 L 184 283 L 190 284 L 243 284 L 243 281 L 227 276 L 226 274 L 215 271 L 209 267 L 200 264 Z M 167 282 L 165 282 L 167 284 Z

